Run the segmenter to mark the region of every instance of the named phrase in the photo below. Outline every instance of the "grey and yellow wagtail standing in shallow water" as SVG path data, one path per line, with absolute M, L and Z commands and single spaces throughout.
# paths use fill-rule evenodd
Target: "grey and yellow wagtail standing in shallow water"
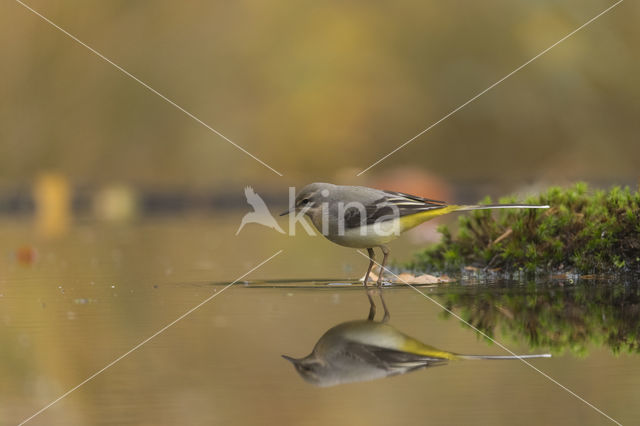
M 369 268 L 364 278 L 367 286 L 374 264 L 374 247 L 383 253 L 378 286 L 389 257 L 385 245 L 404 231 L 443 214 L 481 209 L 546 209 L 530 204 L 453 205 L 402 192 L 382 191 L 364 186 L 312 183 L 300 190 L 294 205 L 280 214 L 306 215 L 318 231 L 341 246 L 366 248 Z

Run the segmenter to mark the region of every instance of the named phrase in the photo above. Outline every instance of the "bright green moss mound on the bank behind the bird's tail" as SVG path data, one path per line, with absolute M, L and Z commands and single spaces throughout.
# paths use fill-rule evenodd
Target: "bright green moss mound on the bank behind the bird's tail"
M 417 253 L 407 266 L 438 271 L 476 266 L 528 274 L 640 271 L 640 193 L 619 187 L 589 191 L 585 183 L 578 183 L 567 189 L 550 188 L 526 202 L 551 208 L 464 214 L 457 236 L 440 227 L 442 241 Z

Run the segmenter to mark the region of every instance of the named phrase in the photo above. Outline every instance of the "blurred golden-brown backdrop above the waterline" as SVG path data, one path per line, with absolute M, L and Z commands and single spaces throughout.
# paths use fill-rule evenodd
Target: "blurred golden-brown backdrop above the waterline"
M 361 177 L 612 2 L 29 4 L 284 177 L 3 2 L 4 212 L 28 210 L 30 188 L 46 173 L 67 182 L 72 199 L 88 193 L 99 204 L 93 194 L 115 187 L 107 197 L 142 194 L 151 208 L 200 196 L 209 207 L 243 205 L 245 185 L 286 200 L 287 186 L 318 180 L 450 199 L 537 183 L 638 181 L 634 2 Z

